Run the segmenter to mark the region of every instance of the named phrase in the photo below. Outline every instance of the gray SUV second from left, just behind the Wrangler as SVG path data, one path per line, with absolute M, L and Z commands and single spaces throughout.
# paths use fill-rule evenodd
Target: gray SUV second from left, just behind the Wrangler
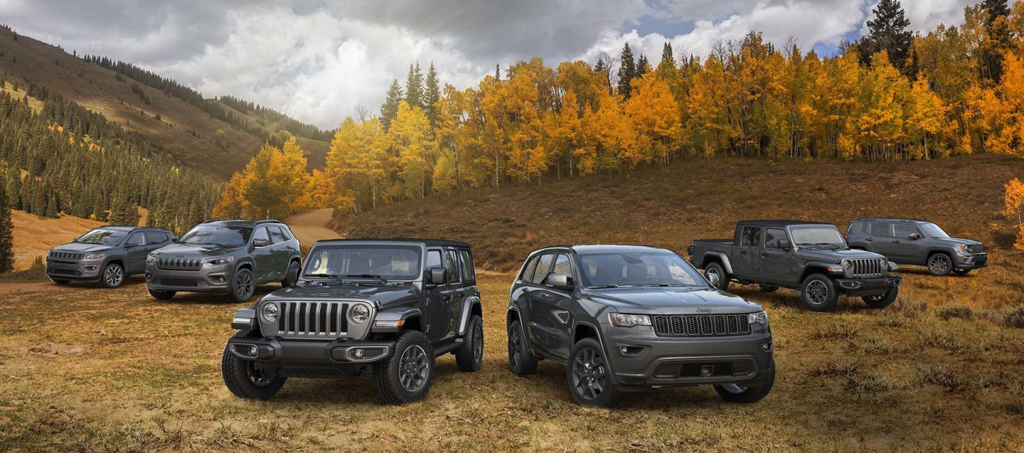
M 145 259 L 145 285 L 161 300 L 188 291 L 242 302 L 257 285 L 298 280 L 299 240 L 278 220 L 210 219 L 173 241 Z

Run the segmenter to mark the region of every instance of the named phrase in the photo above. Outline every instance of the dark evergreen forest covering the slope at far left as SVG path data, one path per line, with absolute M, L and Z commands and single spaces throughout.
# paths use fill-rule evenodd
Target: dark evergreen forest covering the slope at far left
M 7 83 L 0 78 L 0 86 Z M 0 170 L 10 207 L 183 232 L 208 216 L 220 184 L 168 161 L 159 147 L 45 87 L 0 92 Z M 29 96 L 42 102 L 37 113 Z

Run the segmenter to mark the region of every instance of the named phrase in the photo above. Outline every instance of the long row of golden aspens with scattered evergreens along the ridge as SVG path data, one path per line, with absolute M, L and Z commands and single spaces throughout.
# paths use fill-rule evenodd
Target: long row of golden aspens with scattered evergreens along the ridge
M 432 65 L 426 76 L 415 65 L 404 86 L 391 83 L 380 116 L 341 123 L 326 168 L 303 177 L 313 204 L 289 209 L 344 217 L 463 188 L 697 157 L 1024 156 L 1024 4 L 985 0 L 961 26 L 923 35 L 907 30 L 896 0 L 872 13 L 868 33 L 831 56 L 754 32 L 703 58 L 667 43 L 656 66 L 628 44 L 594 65 L 535 57 L 467 89 L 441 87 Z M 247 200 L 240 184 L 251 177 L 237 176 L 222 206 L 287 214 Z

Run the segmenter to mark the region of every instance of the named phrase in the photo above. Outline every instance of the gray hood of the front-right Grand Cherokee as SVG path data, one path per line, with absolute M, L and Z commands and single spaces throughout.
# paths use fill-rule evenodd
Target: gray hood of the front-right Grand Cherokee
M 761 305 L 717 289 L 667 287 L 588 289 L 590 298 L 620 313 L 652 315 L 760 312 Z

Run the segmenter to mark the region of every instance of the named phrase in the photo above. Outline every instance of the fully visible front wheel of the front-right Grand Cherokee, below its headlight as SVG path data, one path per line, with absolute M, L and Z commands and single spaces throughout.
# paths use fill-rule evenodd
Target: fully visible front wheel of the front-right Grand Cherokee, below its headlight
M 611 370 L 594 338 L 584 338 L 572 346 L 566 367 L 569 392 L 577 403 L 585 406 L 613 408 L 623 402 L 625 393 L 611 382 Z

